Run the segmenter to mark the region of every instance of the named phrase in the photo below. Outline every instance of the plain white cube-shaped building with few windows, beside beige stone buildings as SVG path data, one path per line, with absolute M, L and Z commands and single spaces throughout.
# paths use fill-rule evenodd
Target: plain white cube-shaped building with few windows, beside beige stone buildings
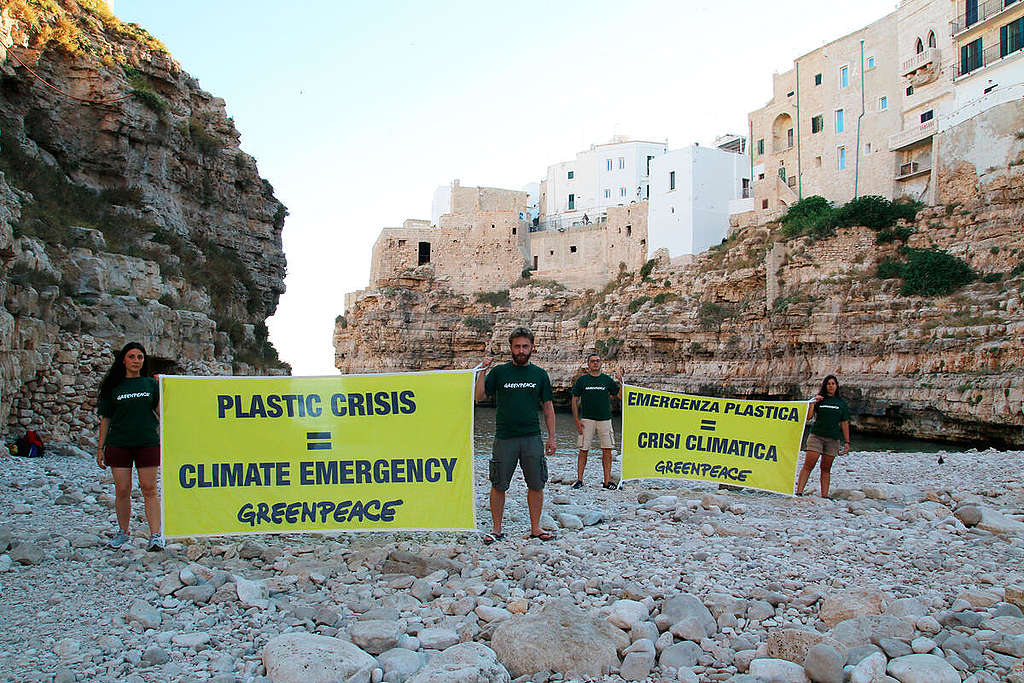
M 672 256 L 699 254 L 722 242 L 729 230 L 730 208 L 748 200 L 751 158 L 745 138 L 727 136 L 718 146 L 694 144 L 673 150 L 650 164 L 650 251 Z M 733 151 L 734 150 L 734 151 Z

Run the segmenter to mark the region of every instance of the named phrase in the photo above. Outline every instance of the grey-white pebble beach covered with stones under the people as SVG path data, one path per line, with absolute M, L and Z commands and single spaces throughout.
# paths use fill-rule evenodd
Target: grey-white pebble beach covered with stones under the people
M 939 459 L 942 463 L 939 463 Z M 1024 683 L 1021 452 L 853 453 L 829 499 L 549 461 L 506 538 L 170 539 L 121 550 L 114 487 L 57 445 L 0 459 L 2 681 Z M 486 459 L 476 516 L 489 530 Z M 817 472 L 809 492 L 817 490 Z

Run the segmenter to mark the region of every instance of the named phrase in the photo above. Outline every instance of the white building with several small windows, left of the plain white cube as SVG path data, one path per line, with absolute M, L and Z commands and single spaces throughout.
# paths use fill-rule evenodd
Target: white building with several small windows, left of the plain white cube
M 650 164 L 668 151 L 666 142 L 622 136 L 591 145 L 572 161 L 548 167 L 541 190 L 541 226 L 565 227 L 604 215 L 608 207 L 647 199 Z

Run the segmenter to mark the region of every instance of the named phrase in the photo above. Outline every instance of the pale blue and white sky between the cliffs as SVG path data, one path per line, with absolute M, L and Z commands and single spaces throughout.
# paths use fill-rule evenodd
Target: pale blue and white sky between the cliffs
M 772 73 L 895 0 L 114 0 L 224 98 L 289 210 L 268 321 L 295 375 L 334 375 L 334 319 L 382 227 L 439 185 L 520 189 L 612 135 L 745 133 Z

